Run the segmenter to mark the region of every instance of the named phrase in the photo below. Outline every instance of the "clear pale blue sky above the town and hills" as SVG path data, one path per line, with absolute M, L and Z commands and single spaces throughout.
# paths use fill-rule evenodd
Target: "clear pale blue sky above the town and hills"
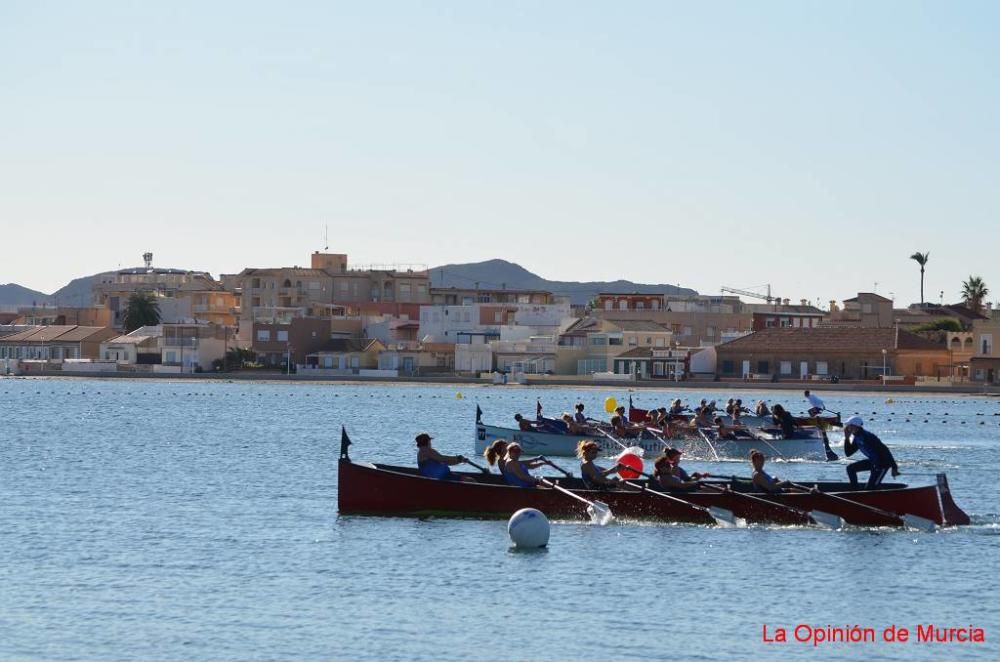
M 1000 297 L 1000 3 L 0 3 L 0 283 L 503 258 Z

